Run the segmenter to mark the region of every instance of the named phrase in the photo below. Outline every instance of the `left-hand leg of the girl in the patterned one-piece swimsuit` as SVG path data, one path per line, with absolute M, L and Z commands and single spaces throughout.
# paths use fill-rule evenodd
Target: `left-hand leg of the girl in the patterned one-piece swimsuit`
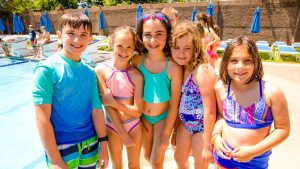
M 192 135 L 184 128 L 183 124 L 179 124 L 176 137 L 176 149 L 174 158 L 177 166 L 181 168 L 189 168 L 188 157 L 192 146 Z

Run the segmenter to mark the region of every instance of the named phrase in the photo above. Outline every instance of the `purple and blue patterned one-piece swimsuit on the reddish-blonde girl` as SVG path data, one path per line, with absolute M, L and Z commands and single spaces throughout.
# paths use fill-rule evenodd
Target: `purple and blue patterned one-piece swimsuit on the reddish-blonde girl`
M 181 87 L 179 118 L 188 132 L 196 134 L 204 130 L 203 117 L 202 97 L 191 73 Z

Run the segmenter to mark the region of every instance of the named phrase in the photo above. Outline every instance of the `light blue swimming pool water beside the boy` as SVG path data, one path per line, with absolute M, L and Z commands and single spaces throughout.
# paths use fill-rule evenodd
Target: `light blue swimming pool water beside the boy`
M 47 168 L 31 95 L 36 64 L 0 58 L 0 168 Z

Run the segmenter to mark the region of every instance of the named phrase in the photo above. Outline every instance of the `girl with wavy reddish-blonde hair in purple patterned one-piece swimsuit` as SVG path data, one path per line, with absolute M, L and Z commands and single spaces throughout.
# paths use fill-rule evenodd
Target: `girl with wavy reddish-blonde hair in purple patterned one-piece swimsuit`
M 189 166 L 191 150 L 196 169 L 207 169 L 212 159 L 210 139 L 216 121 L 217 77 L 204 56 L 200 37 L 192 23 L 180 23 L 172 30 L 172 57 L 184 70 L 178 112 L 181 123 L 174 155 L 178 168 Z

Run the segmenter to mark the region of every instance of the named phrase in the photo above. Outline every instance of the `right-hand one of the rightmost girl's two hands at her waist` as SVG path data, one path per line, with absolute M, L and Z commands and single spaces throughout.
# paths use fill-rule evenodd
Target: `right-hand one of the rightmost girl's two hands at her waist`
M 237 147 L 232 151 L 231 157 L 238 162 L 248 162 L 255 156 L 252 149 L 251 146 Z

